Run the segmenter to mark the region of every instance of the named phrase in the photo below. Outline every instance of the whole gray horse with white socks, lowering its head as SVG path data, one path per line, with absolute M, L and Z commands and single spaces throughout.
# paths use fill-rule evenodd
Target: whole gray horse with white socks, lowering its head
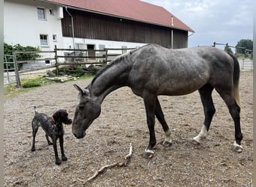
M 165 49 L 148 44 L 121 55 L 103 68 L 85 89 L 79 91 L 79 103 L 73 118 L 72 131 L 76 138 L 85 137 L 85 130 L 99 117 L 103 99 L 112 91 L 128 86 L 144 99 L 150 141 L 145 158 L 153 157 L 156 144 L 155 117 L 165 132 L 163 145 L 171 145 L 171 132 L 165 121 L 157 96 L 180 96 L 199 91 L 204 106 L 204 124 L 192 139 L 200 144 L 207 136 L 215 113 L 212 92 L 216 91 L 228 106 L 235 126 L 234 149 L 241 152 L 243 138 L 240 129 L 240 67 L 233 55 L 212 46 L 189 49 Z

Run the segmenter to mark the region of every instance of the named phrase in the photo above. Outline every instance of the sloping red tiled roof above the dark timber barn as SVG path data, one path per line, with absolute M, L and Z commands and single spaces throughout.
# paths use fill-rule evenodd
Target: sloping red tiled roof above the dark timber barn
M 161 25 L 168 28 L 177 28 L 184 31 L 192 31 L 188 25 L 169 13 L 164 7 L 156 6 L 139 0 L 48 0 L 55 4 L 67 7 L 88 10 L 95 13 L 103 13 L 109 16 L 117 16 L 124 19 L 132 19 L 137 22 L 146 22 L 153 25 Z M 173 25 L 171 25 L 171 16 Z

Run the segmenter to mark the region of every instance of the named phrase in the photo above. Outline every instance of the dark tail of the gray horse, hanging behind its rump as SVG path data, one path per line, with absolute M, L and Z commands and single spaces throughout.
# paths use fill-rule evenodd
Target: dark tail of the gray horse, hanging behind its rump
M 237 105 L 241 108 L 240 96 L 239 96 L 240 65 L 239 65 L 239 62 L 237 61 L 237 58 L 234 55 L 232 54 L 229 54 L 229 55 L 231 55 L 234 61 L 234 73 L 233 73 L 234 98 L 237 102 Z

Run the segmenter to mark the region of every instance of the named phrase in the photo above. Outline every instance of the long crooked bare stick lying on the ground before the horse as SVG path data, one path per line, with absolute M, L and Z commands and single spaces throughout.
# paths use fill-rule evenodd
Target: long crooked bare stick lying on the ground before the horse
M 106 171 L 106 169 L 113 168 L 115 166 L 118 166 L 118 167 L 127 166 L 131 157 L 132 157 L 132 144 L 129 144 L 129 153 L 127 154 L 127 156 L 124 156 L 124 160 L 125 160 L 124 162 L 115 162 L 111 165 L 105 165 L 102 168 L 100 168 L 100 170 L 96 171 L 95 174 L 92 177 L 88 178 L 88 180 L 81 180 L 81 179 L 78 179 L 78 180 L 86 183 L 86 182 L 89 182 L 91 180 L 94 180 L 99 174 Z

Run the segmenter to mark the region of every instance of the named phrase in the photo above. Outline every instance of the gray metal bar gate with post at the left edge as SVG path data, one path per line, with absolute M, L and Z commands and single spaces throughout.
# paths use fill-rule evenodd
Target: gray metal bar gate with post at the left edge
M 19 71 L 14 55 L 4 55 L 4 86 L 16 82 L 16 87 L 20 87 Z

